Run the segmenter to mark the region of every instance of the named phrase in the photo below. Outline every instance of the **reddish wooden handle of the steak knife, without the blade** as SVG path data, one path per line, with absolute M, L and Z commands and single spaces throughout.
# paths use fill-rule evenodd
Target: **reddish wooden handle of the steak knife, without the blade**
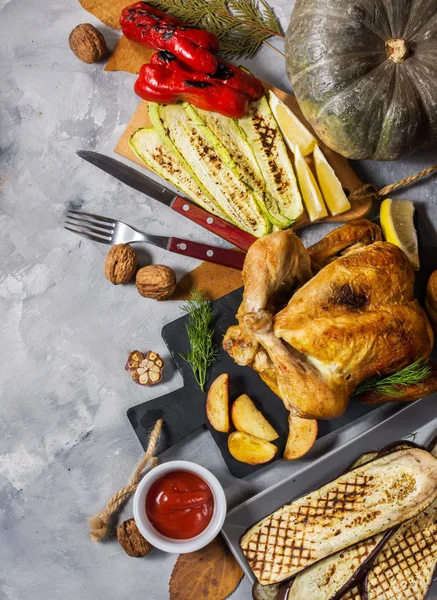
M 246 231 L 242 231 L 235 225 L 231 225 L 231 223 L 228 223 L 224 219 L 220 219 L 220 217 L 212 215 L 204 208 L 193 204 L 185 198 L 177 196 L 176 199 L 173 200 L 171 207 L 180 215 L 184 215 L 184 217 L 187 217 L 190 221 L 197 223 L 204 229 L 208 229 L 208 231 L 231 242 L 231 244 L 234 244 L 234 246 L 241 248 L 245 252 L 247 252 L 253 242 L 256 241 L 255 236 Z

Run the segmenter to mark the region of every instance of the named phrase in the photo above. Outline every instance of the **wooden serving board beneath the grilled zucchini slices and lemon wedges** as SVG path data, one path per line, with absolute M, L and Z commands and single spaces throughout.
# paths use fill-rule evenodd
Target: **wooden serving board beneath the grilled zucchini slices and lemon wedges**
M 283 90 L 275 88 L 274 86 L 269 85 L 266 82 L 263 82 L 263 83 L 264 83 L 264 87 L 266 90 L 269 90 L 269 89 L 273 90 L 274 93 L 297 115 L 297 117 L 303 123 L 305 123 L 305 125 L 311 131 L 313 131 L 311 129 L 310 125 L 305 121 L 305 119 L 302 115 L 302 112 L 299 108 L 299 105 L 297 103 L 297 100 L 294 96 L 292 96 L 291 94 L 287 94 Z M 135 154 L 132 152 L 132 150 L 129 146 L 129 139 L 130 139 L 131 135 L 140 127 L 150 127 L 151 125 L 152 124 L 150 122 L 149 114 L 147 111 L 147 102 L 141 101 L 140 104 L 138 105 L 137 110 L 135 111 L 132 119 L 129 121 L 128 126 L 126 127 L 125 131 L 123 132 L 123 135 L 121 136 L 120 140 L 118 141 L 118 144 L 114 148 L 114 150 L 117 154 L 120 154 L 120 156 L 124 156 L 125 158 L 128 158 L 129 160 L 135 162 L 137 165 L 139 165 L 140 167 L 142 167 L 143 169 L 146 169 L 146 170 L 148 170 L 148 168 L 145 165 L 145 163 L 143 163 L 139 158 L 137 158 L 135 156 Z M 313 131 L 313 134 L 314 134 L 314 131 Z M 319 141 L 319 145 L 320 145 L 320 148 L 322 149 L 323 154 L 326 156 L 330 165 L 333 167 L 334 171 L 336 172 L 337 177 L 340 179 L 341 183 L 343 184 L 343 188 L 346 191 L 346 193 L 348 194 L 350 192 L 354 192 L 355 190 L 359 189 L 363 185 L 363 183 L 359 179 L 359 177 L 357 177 L 355 172 L 352 170 L 352 167 L 350 166 L 349 161 L 346 158 L 344 158 L 343 156 L 340 156 L 339 154 L 337 154 L 336 152 L 334 152 L 333 150 L 331 150 L 330 148 L 325 146 L 325 144 L 323 144 L 323 142 L 321 142 L 320 140 L 318 140 L 318 141 Z M 312 156 L 306 157 L 306 160 L 311 167 L 314 166 Z M 367 198 L 365 200 L 353 201 L 353 202 L 351 202 L 351 205 L 352 205 L 351 209 L 348 210 L 347 212 L 345 212 L 341 215 L 337 215 L 335 217 L 325 217 L 324 219 L 321 219 L 321 221 L 344 223 L 345 221 L 352 221 L 353 219 L 359 219 L 360 217 L 364 217 L 369 212 L 369 210 L 372 206 L 372 200 L 370 198 Z M 315 221 L 313 221 L 313 223 L 314 222 Z M 307 225 L 310 225 L 310 224 L 311 224 L 311 221 L 309 220 L 306 212 L 304 212 L 302 217 L 293 225 L 293 229 L 302 229 L 303 227 L 306 227 Z

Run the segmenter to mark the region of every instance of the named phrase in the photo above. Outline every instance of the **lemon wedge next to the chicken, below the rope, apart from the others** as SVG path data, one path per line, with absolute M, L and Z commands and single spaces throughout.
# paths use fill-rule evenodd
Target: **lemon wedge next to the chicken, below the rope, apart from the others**
M 403 250 L 414 269 L 418 271 L 420 262 L 414 227 L 414 204 L 409 200 L 387 198 L 381 203 L 380 220 L 384 238 Z

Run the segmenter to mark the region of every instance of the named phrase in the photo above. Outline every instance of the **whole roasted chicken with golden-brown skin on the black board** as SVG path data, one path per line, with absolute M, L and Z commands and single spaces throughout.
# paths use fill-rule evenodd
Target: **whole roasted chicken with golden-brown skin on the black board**
M 341 415 L 362 381 L 427 360 L 434 335 L 414 297 L 414 271 L 367 219 L 335 229 L 306 249 L 291 230 L 249 249 L 238 325 L 223 347 L 251 366 L 294 415 Z M 437 389 L 437 373 L 400 398 Z M 402 397 L 401 397 L 402 396 Z

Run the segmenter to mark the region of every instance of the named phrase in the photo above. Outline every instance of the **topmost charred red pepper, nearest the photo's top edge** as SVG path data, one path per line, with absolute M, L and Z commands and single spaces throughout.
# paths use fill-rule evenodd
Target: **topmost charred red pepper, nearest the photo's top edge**
M 142 46 L 168 50 L 196 71 L 214 73 L 219 43 L 213 33 L 194 29 L 146 4 L 136 2 L 123 9 L 120 25 L 124 35 Z

